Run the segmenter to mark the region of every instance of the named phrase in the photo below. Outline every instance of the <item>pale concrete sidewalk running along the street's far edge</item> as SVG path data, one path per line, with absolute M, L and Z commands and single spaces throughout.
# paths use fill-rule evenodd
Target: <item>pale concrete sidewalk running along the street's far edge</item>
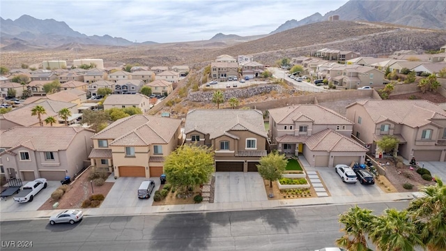
M 388 193 L 382 195 L 343 196 L 343 197 L 318 197 L 309 199 L 277 199 L 269 201 L 247 201 L 247 202 L 222 202 L 209 204 L 188 204 L 170 206 L 129 206 L 116 208 L 86 208 L 84 215 L 88 216 L 125 216 L 125 215 L 148 215 L 160 213 L 205 213 L 217 211 L 242 211 L 256 209 L 284 208 L 293 206 L 315 206 L 330 204 L 363 204 L 371 202 L 402 201 L 412 199 L 411 192 Z M 0 221 L 7 220 L 33 220 L 48 219 L 58 210 L 46 211 L 23 211 L 13 213 L 1 213 Z

